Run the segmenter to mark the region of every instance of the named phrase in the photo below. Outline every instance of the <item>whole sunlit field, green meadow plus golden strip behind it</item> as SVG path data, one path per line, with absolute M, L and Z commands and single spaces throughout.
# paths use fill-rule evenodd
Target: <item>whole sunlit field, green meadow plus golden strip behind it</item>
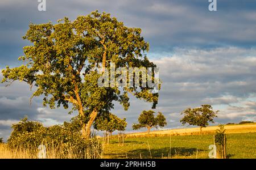
M 124 145 L 113 137 L 104 158 L 208 158 L 217 126 L 126 134 Z M 256 158 L 256 124 L 225 125 L 228 158 Z M 195 135 L 196 134 L 196 135 Z

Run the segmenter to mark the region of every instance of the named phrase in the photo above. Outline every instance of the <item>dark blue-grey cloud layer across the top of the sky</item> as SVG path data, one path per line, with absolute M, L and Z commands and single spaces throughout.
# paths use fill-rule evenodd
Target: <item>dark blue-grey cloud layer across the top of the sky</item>
M 96 9 L 110 12 L 129 27 L 141 27 L 151 53 L 171 52 L 174 47 L 208 48 L 222 45 L 254 46 L 256 20 L 254 1 L 218 1 L 216 12 L 201 1 L 47 1 L 47 11 L 38 2 L 5 0 L 0 3 L 0 67 L 15 64 L 22 55 L 22 40 L 28 24 L 46 23 L 68 16 L 72 20 Z

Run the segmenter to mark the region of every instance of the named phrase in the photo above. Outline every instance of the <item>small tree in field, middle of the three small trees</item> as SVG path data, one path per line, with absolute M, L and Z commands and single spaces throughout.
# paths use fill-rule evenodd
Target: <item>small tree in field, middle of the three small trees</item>
M 133 130 L 147 128 L 147 134 L 150 134 L 151 128 L 163 128 L 167 125 L 166 118 L 161 112 L 158 112 L 158 115 L 154 116 L 154 111 L 142 111 L 141 115 L 138 118 L 139 124 L 133 124 Z

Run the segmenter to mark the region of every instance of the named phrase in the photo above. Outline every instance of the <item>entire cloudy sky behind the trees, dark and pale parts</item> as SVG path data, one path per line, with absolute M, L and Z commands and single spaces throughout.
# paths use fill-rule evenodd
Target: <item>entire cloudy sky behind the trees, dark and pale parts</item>
M 129 27 L 142 28 L 150 43 L 148 56 L 160 67 L 163 87 L 156 111 L 167 117 L 166 128 L 181 126 L 180 112 L 211 104 L 220 110 L 216 123 L 256 121 L 256 1 L 217 0 L 46 0 L 38 11 L 36 0 L 0 1 L 0 70 L 19 66 L 18 57 L 28 44 L 22 36 L 28 24 L 76 19 L 94 10 L 106 11 Z M 0 74 L 0 79 L 2 75 Z M 32 90 L 33 91 L 33 90 Z M 32 100 L 27 84 L 0 84 L 0 137 L 24 115 L 44 125 L 61 124 L 75 114 L 42 107 L 42 97 Z M 139 113 L 151 105 L 131 97 L 129 111 L 118 104 L 113 113 L 127 118 L 127 131 Z M 143 129 L 142 129 L 143 130 Z

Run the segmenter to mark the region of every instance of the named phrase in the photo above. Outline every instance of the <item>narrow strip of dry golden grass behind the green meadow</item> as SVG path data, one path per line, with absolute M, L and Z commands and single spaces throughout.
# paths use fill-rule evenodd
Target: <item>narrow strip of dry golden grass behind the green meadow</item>
M 203 128 L 203 134 L 214 133 L 218 126 L 209 126 Z M 226 133 L 255 133 L 256 124 L 243 124 L 243 125 L 225 125 Z M 150 136 L 166 136 L 166 135 L 195 135 L 200 134 L 200 128 L 183 128 L 183 129 L 170 129 L 170 130 L 155 130 L 150 132 Z M 126 137 L 143 137 L 147 132 L 130 133 Z

